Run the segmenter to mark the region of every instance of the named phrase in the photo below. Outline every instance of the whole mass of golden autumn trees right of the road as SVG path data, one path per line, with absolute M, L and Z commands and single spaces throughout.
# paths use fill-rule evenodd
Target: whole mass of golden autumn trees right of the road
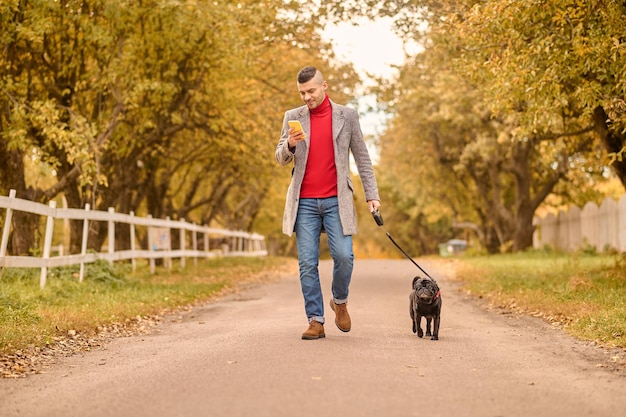
M 380 170 L 416 251 L 454 227 L 522 250 L 547 198 L 597 199 L 607 167 L 626 186 L 622 2 L 336 3 L 339 19 L 395 18 L 423 47 L 380 93 L 394 115 Z

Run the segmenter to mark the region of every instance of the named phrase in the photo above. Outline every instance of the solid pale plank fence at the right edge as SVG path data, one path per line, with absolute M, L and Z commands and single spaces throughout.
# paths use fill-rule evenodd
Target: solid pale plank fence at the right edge
M 615 249 L 626 252 L 626 194 L 619 201 L 606 198 L 600 207 L 587 203 L 558 214 L 536 217 L 533 246 L 573 251 L 585 246 L 602 252 Z

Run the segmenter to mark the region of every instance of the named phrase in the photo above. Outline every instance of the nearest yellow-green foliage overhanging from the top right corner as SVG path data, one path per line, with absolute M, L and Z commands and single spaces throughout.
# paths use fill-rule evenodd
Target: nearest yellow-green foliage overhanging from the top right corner
M 519 118 L 516 137 L 593 129 L 626 187 L 626 6 L 603 0 L 448 4 L 436 30 L 453 34 L 455 65 L 484 86 L 490 109 Z

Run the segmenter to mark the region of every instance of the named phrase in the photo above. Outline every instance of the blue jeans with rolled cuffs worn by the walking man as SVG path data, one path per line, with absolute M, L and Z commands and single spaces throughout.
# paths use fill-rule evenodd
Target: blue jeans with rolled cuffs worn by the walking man
M 295 226 L 300 286 L 307 318 L 309 322 L 315 320 L 318 323 L 324 323 L 324 299 L 318 269 L 322 225 L 333 258 L 333 299 L 335 303 L 343 304 L 348 301 L 354 253 L 352 236 L 343 234 L 337 197 L 300 199 Z

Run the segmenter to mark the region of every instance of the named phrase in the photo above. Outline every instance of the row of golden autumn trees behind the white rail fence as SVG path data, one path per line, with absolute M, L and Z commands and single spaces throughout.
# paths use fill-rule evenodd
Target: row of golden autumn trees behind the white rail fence
M 297 71 L 357 82 L 300 13 L 315 17 L 282 0 L 3 1 L 0 192 L 249 230 Z M 37 219 L 14 219 L 25 253 Z

